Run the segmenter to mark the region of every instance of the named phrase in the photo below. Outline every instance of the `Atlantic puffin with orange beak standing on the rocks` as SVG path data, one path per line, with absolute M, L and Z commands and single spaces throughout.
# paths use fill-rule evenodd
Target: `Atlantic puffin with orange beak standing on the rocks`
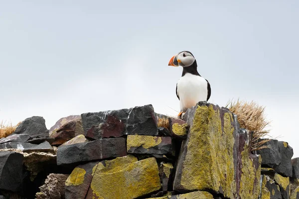
M 211 97 L 211 86 L 209 82 L 197 72 L 197 63 L 193 54 L 189 51 L 182 51 L 174 55 L 168 66 L 182 66 L 183 73 L 176 83 L 176 96 L 180 101 L 180 112 L 186 112 L 188 108 L 195 106 L 199 101 L 208 101 Z

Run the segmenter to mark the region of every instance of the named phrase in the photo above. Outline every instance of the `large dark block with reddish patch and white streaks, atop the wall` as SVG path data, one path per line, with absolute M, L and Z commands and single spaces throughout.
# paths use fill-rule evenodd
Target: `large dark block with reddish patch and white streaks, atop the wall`
M 92 139 L 121 137 L 123 135 L 158 135 L 157 121 L 152 105 L 130 109 L 83 113 L 85 136 Z

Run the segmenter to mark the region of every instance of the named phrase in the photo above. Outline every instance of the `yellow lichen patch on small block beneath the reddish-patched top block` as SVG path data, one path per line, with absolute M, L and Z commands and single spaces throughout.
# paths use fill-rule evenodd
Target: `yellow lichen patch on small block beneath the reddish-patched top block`
M 154 137 L 148 135 L 128 135 L 127 138 L 127 149 L 132 147 L 142 146 L 145 149 L 157 146 L 162 142 L 161 137 Z

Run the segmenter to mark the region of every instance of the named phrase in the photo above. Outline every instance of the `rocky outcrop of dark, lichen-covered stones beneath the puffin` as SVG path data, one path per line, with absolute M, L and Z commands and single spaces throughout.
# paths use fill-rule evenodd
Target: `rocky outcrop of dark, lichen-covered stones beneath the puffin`
M 71 115 L 50 137 L 41 117 L 22 126 L 0 139 L 6 198 L 299 198 L 292 147 L 270 140 L 253 153 L 253 132 L 215 104 L 199 102 L 182 120 L 151 105 Z

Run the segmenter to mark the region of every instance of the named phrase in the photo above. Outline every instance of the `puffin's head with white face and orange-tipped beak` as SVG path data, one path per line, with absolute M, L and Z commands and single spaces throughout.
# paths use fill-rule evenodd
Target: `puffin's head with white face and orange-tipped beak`
M 168 66 L 191 66 L 195 61 L 194 56 L 189 51 L 182 51 L 171 57 Z

